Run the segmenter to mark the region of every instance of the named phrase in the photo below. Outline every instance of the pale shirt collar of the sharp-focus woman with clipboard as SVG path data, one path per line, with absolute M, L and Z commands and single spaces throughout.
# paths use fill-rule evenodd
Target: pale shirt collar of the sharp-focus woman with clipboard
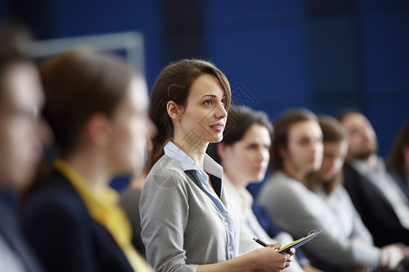
M 194 160 L 192 160 L 184 151 L 179 149 L 175 143 L 168 141 L 164 148 L 166 156 L 172 159 L 175 164 L 177 164 L 182 170 L 196 170 L 200 179 L 207 180 L 207 175 L 211 174 L 215 177 L 222 179 L 223 177 L 223 168 L 215 162 L 209 155 L 205 154 L 205 160 L 203 163 L 202 170 Z

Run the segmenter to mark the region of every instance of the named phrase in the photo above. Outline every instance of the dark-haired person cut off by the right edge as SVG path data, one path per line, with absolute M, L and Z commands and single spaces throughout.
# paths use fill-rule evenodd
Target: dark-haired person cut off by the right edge
M 400 182 L 401 189 L 409 199 L 409 120 L 404 122 L 401 131 L 396 136 L 385 164 L 389 173 Z

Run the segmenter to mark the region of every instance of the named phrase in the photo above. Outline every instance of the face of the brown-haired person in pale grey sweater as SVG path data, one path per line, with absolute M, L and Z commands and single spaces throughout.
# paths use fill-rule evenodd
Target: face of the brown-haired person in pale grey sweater
M 319 170 L 323 161 L 323 132 L 316 121 L 299 121 L 288 131 L 286 160 L 296 174 Z

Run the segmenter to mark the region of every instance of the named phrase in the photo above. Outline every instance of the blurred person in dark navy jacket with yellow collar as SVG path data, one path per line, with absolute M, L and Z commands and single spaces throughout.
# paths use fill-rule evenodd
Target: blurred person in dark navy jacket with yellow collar
M 92 50 L 56 55 L 40 73 L 57 154 L 23 207 L 26 238 L 49 271 L 153 271 L 132 246 L 119 195 L 109 187 L 143 163 L 144 78 Z

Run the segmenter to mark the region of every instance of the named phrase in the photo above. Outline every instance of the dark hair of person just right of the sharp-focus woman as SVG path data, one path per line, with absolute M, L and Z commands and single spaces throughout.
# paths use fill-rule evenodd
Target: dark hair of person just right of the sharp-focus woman
M 223 132 L 223 140 L 221 141 L 224 142 L 226 146 L 234 145 L 236 141 L 240 141 L 245 132 L 254 124 L 264 126 L 264 128 L 270 132 L 270 137 L 272 137 L 273 124 L 268 120 L 268 116 L 265 112 L 256 112 L 245 106 L 233 105 L 229 109 L 228 116 Z M 210 143 L 206 152 L 213 160 L 222 163 L 222 159 L 217 153 L 217 144 L 218 143 Z

